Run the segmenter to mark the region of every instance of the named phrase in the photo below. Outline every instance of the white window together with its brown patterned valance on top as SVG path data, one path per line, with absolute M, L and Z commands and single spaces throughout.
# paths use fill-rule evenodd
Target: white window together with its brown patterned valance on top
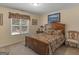
M 11 35 L 29 32 L 30 16 L 9 12 L 9 19 L 11 20 Z

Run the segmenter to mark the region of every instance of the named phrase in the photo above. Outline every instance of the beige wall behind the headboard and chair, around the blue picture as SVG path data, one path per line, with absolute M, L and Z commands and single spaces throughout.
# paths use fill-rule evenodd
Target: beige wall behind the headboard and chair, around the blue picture
M 57 11 L 61 13 L 61 23 L 66 25 L 66 31 L 79 31 L 79 6 Z M 51 12 L 52 13 L 52 12 Z M 48 14 L 42 15 L 41 24 L 48 23 Z

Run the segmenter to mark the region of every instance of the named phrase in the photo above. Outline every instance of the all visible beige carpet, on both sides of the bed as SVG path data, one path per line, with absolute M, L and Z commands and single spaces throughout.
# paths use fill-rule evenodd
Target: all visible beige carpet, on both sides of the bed
M 9 55 L 38 55 L 32 49 L 25 47 L 24 42 L 0 48 L 0 52 L 7 52 Z M 54 53 L 55 55 L 79 55 L 78 48 L 61 46 Z M 1 54 L 0 54 L 1 55 Z

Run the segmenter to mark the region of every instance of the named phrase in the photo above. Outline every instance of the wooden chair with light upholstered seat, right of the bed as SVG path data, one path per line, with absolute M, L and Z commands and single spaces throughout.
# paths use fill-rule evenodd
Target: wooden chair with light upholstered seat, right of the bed
M 67 39 L 65 41 L 67 46 L 79 48 L 79 32 L 77 31 L 68 31 Z

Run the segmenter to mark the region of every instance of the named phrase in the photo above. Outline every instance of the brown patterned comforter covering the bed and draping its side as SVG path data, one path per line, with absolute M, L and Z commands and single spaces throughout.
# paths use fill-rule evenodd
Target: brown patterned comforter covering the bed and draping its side
M 65 41 L 64 35 L 61 32 L 54 31 L 53 35 L 46 33 L 30 35 L 30 37 L 49 44 L 49 54 L 53 54 Z

